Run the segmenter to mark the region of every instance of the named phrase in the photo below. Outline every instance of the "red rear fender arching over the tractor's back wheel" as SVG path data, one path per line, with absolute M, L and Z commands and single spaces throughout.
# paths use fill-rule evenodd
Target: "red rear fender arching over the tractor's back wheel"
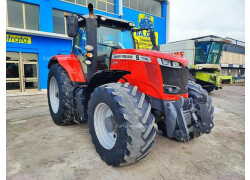
M 56 63 L 59 63 L 67 71 L 72 82 L 87 82 L 81 63 L 74 54 L 53 56 L 49 61 L 48 68 Z

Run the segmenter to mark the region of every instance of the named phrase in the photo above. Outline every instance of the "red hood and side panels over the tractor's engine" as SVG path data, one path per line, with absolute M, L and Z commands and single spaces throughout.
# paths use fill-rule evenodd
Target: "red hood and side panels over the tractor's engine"
M 184 98 L 188 97 L 188 94 L 171 95 L 163 92 L 162 74 L 157 61 L 157 58 L 162 58 L 177 61 L 183 66 L 187 66 L 187 59 L 158 51 L 139 49 L 118 49 L 113 52 L 113 55 L 115 54 L 134 54 L 150 57 L 151 62 L 127 59 L 112 59 L 111 61 L 111 70 L 126 70 L 131 72 L 131 74 L 124 77 L 132 86 L 138 86 L 140 92 L 162 100 L 179 100 L 180 98 L 178 96 L 180 95 Z

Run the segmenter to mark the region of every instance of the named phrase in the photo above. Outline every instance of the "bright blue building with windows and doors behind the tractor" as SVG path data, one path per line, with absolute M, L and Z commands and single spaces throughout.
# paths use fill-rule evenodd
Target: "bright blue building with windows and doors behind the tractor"
M 153 26 L 158 44 L 167 42 L 167 0 L 7 0 L 7 91 L 47 88 L 50 58 L 71 52 L 64 13 L 88 14 L 88 3 L 95 14 Z

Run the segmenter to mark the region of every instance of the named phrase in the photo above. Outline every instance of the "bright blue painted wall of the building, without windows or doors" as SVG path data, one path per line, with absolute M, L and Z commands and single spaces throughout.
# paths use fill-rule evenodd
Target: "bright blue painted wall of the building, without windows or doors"
M 22 33 L 19 32 L 18 29 L 7 27 L 7 34 L 11 35 L 25 35 L 31 37 L 31 44 L 21 44 L 21 43 L 6 43 L 6 50 L 9 52 L 29 52 L 29 53 L 37 53 L 38 54 L 38 66 L 39 66 L 39 82 L 40 89 L 47 88 L 47 75 L 48 69 L 47 64 L 49 59 L 53 55 L 57 54 L 70 54 L 71 52 L 71 39 L 53 37 L 53 9 L 78 13 L 78 14 L 88 14 L 88 9 L 85 6 L 76 5 L 73 3 L 60 1 L 60 0 L 19 0 L 19 2 L 30 3 L 39 6 L 39 18 L 40 18 L 40 31 L 36 31 L 32 35 L 30 35 L 27 31 Z M 137 10 L 133 10 L 127 7 L 123 7 L 123 16 L 119 16 L 119 0 L 115 0 L 115 14 L 107 13 L 100 10 L 95 10 L 95 14 L 102 14 L 109 17 L 121 18 L 128 21 L 133 21 L 138 27 L 139 25 L 139 14 L 146 14 L 143 12 L 139 12 Z M 167 4 L 166 2 L 162 2 L 162 17 L 154 17 L 154 29 L 159 33 L 159 44 L 166 43 L 166 23 L 167 23 Z M 26 30 L 24 30 L 26 31 Z M 40 34 L 40 32 L 53 33 L 50 37 L 45 37 L 46 35 Z

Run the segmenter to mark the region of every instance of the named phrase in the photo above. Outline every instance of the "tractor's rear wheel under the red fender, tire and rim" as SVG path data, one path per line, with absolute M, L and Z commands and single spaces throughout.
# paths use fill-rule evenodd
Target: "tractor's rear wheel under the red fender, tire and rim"
M 73 124 L 73 85 L 60 64 L 54 64 L 49 69 L 47 87 L 49 110 L 54 123 L 60 126 Z

